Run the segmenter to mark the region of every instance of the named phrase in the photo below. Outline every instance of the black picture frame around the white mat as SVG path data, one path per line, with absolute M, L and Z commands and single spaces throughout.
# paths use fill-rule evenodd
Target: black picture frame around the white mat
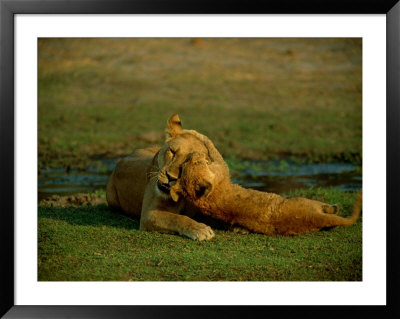
M 14 15 L 15 14 L 385 14 L 387 49 L 387 305 L 386 306 L 16 306 L 14 304 Z M 400 3 L 398 0 L 0 0 L 0 315 L 5 318 L 400 317 L 396 246 L 400 162 Z M 379 186 L 377 186 L 379 187 Z M 240 293 L 240 292 L 238 292 Z M 177 296 L 179 298 L 179 296 Z

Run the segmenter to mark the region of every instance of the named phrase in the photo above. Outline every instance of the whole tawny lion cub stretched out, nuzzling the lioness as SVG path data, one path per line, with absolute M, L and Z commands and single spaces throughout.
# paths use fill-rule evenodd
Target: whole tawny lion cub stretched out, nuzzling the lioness
M 361 193 L 349 218 L 337 207 L 307 198 L 282 196 L 232 184 L 226 165 L 209 165 L 204 154 L 191 154 L 175 191 L 203 214 L 266 235 L 299 235 L 353 224 L 361 211 Z

